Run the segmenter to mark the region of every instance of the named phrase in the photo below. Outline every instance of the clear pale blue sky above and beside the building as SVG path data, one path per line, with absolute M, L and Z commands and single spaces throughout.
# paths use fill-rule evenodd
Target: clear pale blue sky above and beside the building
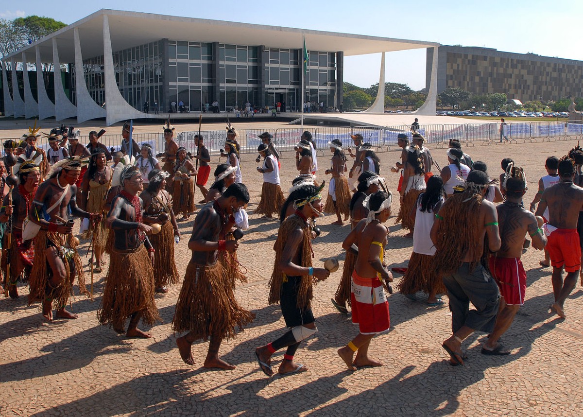
M 583 39 L 579 30 L 582 0 L 27 0 L 3 2 L 0 17 L 14 19 L 38 15 L 73 23 L 100 8 L 479 46 L 583 60 Z M 309 44 L 307 47 L 310 49 Z M 390 52 L 385 80 L 422 89 L 425 62 L 425 49 Z M 344 80 L 368 87 L 378 82 L 379 69 L 380 54 L 346 57 Z

